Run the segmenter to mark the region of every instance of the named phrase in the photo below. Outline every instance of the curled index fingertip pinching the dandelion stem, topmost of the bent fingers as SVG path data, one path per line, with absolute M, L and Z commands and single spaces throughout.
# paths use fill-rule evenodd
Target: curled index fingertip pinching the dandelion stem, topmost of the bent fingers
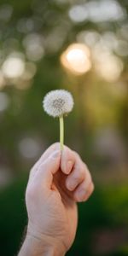
M 61 153 L 61 171 L 65 174 L 69 174 L 76 162 L 76 155 L 73 150 L 64 146 Z

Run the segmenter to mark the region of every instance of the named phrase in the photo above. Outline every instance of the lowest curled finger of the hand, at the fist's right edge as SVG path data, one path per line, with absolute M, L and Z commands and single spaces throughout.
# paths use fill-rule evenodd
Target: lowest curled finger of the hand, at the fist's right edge
M 75 201 L 86 201 L 94 190 L 94 184 L 90 182 L 86 187 L 85 181 L 79 185 L 79 188 L 75 190 L 73 197 Z

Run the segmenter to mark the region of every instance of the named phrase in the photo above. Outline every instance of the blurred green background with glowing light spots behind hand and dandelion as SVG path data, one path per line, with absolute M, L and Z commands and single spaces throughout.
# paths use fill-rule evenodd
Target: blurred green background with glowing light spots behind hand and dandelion
M 59 137 L 42 100 L 60 88 L 75 102 L 65 143 L 96 185 L 67 255 L 128 255 L 127 12 L 126 0 L 0 1 L 0 255 L 19 250 L 29 171 Z

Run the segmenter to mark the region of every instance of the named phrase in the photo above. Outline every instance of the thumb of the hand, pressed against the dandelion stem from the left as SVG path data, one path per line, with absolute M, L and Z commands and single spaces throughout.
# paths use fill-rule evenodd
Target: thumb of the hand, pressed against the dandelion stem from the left
M 34 177 L 38 186 L 44 189 L 50 189 L 53 181 L 53 175 L 60 168 L 61 162 L 61 151 L 56 150 L 54 153 L 50 154 L 49 157 L 38 166 L 38 171 Z

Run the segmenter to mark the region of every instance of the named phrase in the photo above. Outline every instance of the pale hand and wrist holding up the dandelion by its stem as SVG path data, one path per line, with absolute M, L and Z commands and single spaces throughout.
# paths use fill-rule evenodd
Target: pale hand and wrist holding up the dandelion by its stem
M 32 167 L 26 187 L 28 225 L 18 256 L 63 256 L 72 246 L 78 224 L 77 202 L 94 190 L 79 154 L 51 145 Z

